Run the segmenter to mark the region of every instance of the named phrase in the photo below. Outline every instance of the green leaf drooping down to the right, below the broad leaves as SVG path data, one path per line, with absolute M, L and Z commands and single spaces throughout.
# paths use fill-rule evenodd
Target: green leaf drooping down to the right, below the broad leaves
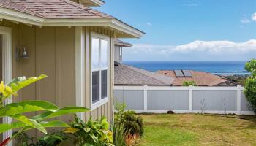
M 29 119 L 25 115 L 20 115 L 20 114 L 12 115 L 10 117 L 14 118 L 15 120 L 19 120 L 20 122 L 23 122 L 26 125 L 31 126 L 32 128 L 37 128 L 39 131 L 42 131 L 43 133 L 47 134 L 47 131 L 44 128 L 44 126 L 42 126 L 41 123 L 38 123 L 34 119 Z

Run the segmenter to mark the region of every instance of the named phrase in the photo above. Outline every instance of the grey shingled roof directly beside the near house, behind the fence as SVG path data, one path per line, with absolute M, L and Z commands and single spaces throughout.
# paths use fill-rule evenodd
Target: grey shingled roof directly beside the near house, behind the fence
M 171 77 L 115 63 L 115 85 L 170 85 Z

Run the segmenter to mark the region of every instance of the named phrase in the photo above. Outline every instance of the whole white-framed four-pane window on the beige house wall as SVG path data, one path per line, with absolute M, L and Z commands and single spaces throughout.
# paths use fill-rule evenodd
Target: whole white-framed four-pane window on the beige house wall
M 108 102 L 110 39 L 91 33 L 91 110 Z

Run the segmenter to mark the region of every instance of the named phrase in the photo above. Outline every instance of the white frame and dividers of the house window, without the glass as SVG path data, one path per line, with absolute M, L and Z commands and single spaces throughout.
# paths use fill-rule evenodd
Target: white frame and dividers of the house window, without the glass
M 91 32 L 91 38 L 90 38 L 90 48 L 91 48 L 91 60 L 92 60 L 92 38 L 98 38 L 100 40 L 102 39 L 105 39 L 108 41 L 108 68 L 99 68 L 99 69 L 92 69 L 92 61 L 91 61 L 91 95 L 90 95 L 90 101 L 91 101 L 91 110 L 95 110 L 97 109 L 98 107 L 102 106 L 103 104 L 106 104 L 108 103 L 109 101 L 109 89 L 110 89 L 110 37 L 107 36 L 107 35 L 104 35 L 104 34 L 98 34 L 98 33 L 95 33 L 95 32 Z M 100 45 L 99 45 L 99 48 L 101 48 L 101 42 L 100 42 Z M 99 54 L 100 54 L 100 51 L 99 51 Z M 100 57 L 99 57 L 99 60 L 100 60 Z M 107 70 L 107 97 L 105 97 L 104 99 L 101 99 L 101 72 L 102 70 Z M 97 72 L 99 71 L 99 101 L 93 103 L 92 101 L 92 72 Z

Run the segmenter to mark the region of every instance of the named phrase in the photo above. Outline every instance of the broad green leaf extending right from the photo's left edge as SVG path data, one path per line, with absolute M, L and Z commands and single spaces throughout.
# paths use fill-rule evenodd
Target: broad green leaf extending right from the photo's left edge
M 58 109 L 59 107 L 48 101 L 21 101 L 18 103 L 7 104 L 5 107 L 1 108 L 0 117 L 42 110 L 54 112 Z

